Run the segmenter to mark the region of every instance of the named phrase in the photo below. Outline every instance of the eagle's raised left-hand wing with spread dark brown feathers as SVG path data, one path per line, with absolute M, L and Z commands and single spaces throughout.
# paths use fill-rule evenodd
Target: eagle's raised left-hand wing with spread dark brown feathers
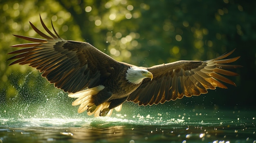
M 34 31 L 46 39 L 14 35 L 35 43 L 13 45 L 22 49 L 9 53 L 18 54 L 10 58 L 16 59 L 10 65 L 29 64 L 42 72 L 42 76 L 57 88 L 73 93 L 99 85 L 117 68 L 117 61 L 91 44 L 63 40 L 53 25 L 55 34 L 47 29 L 41 16 L 40 20 L 45 31 L 52 37 L 30 23 Z

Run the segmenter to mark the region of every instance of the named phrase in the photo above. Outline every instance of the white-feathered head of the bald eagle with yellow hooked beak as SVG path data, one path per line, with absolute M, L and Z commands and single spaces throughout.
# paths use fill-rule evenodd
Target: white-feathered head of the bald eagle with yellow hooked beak
M 140 84 L 145 78 L 150 78 L 152 80 L 153 74 L 148 70 L 137 66 L 132 66 L 126 71 L 126 80 L 132 84 Z

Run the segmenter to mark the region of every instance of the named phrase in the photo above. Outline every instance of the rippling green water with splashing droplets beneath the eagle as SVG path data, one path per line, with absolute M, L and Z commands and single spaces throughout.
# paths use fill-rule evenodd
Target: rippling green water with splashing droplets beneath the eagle
M 256 143 L 252 109 L 126 103 L 94 118 L 56 103 L 0 108 L 0 143 Z

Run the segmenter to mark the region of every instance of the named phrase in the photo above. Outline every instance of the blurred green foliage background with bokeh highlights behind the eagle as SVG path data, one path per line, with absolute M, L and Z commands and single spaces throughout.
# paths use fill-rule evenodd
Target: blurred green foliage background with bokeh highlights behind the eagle
M 236 64 L 244 67 L 231 79 L 238 87 L 211 91 L 204 100 L 255 106 L 251 98 L 256 86 L 256 1 L 252 0 L 1 0 L 1 104 L 44 102 L 46 96 L 54 98 L 61 92 L 34 68 L 8 66 L 7 53 L 16 50 L 10 46 L 26 42 L 12 34 L 39 37 L 29 25 L 30 21 L 43 30 L 39 14 L 50 29 L 52 20 L 64 39 L 90 42 L 114 59 L 137 66 L 207 60 L 237 48 L 233 57 L 240 55 Z M 177 102 L 190 101 L 202 99 Z

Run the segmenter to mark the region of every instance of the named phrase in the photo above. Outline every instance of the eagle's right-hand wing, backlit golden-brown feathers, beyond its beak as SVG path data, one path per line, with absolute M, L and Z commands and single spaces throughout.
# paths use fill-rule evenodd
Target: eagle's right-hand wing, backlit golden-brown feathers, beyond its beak
M 127 101 L 146 106 L 181 99 L 183 96 L 200 95 L 216 87 L 227 88 L 222 82 L 236 86 L 233 81 L 222 76 L 238 75 L 226 69 L 241 67 L 228 64 L 239 57 L 223 59 L 233 52 L 208 61 L 177 61 L 147 68 L 153 73 L 153 80 L 144 79 Z

